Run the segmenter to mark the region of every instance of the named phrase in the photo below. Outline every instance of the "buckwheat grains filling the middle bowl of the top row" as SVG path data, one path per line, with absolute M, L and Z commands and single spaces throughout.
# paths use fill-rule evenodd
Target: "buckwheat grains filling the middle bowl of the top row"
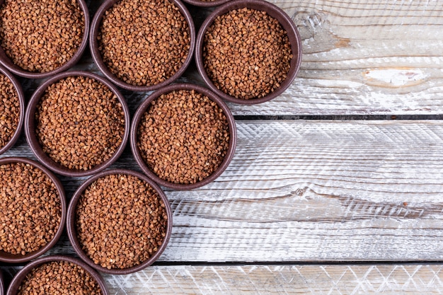
M 121 0 L 105 12 L 98 50 L 109 71 L 134 86 L 171 78 L 190 51 L 185 17 L 168 0 Z

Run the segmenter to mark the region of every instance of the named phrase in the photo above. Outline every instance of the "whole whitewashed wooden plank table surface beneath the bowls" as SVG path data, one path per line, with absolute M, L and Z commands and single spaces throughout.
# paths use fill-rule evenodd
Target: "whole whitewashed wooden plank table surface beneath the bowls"
M 303 39 L 297 79 L 271 102 L 229 104 L 231 165 L 166 190 L 168 247 L 104 274 L 110 294 L 443 293 L 443 1 L 272 2 Z M 198 25 L 207 10 L 191 11 Z M 76 69 L 97 72 L 88 52 Z M 41 82 L 22 81 L 28 98 Z M 195 66 L 180 81 L 202 83 Z M 122 92 L 132 113 L 149 94 Z M 11 155 L 34 158 L 23 138 Z M 139 170 L 129 144 L 113 167 Z M 62 178 L 69 197 L 82 180 Z M 51 253 L 74 255 L 66 236 Z

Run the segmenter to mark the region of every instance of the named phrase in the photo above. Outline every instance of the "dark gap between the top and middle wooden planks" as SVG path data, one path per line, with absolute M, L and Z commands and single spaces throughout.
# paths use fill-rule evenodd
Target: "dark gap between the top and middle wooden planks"
M 442 115 L 234 115 L 238 121 L 254 120 L 443 120 Z

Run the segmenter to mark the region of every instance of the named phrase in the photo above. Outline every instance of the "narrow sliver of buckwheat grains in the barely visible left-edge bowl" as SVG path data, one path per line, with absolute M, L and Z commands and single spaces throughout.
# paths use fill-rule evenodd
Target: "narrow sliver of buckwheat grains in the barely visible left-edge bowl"
M 0 149 L 13 137 L 20 120 L 20 100 L 11 80 L 0 74 Z

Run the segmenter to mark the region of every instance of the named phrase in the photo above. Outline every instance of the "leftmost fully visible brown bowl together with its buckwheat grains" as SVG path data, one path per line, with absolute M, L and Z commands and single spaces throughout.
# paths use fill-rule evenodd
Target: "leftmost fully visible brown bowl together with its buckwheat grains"
M 25 134 L 47 168 L 66 176 L 92 175 L 125 149 L 130 111 L 125 97 L 107 79 L 67 71 L 35 91 L 25 114 Z

